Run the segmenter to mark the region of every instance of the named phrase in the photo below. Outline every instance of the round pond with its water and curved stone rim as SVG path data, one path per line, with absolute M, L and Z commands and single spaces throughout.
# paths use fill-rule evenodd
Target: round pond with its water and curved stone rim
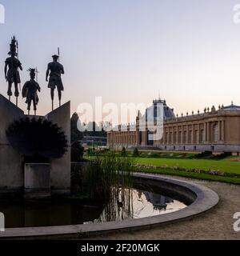
M 80 234 L 148 229 L 206 213 L 219 201 L 213 190 L 192 182 L 154 174 L 134 174 L 134 182 L 128 195 L 117 194 L 106 204 L 75 201 L 4 206 L 1 203 L 6 230 L 0 233 L 0 238 L 79 238 Z

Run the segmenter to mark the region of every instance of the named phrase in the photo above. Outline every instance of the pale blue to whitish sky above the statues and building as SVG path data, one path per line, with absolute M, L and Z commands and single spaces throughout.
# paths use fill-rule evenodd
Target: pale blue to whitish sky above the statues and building
M 22 84 L 38 66 L 38 114 L 50 111 L 46 65 L 61 48 L 72 112 L 82 102 L 149 103 L 158 90 L 175 114 L 240 105 L 240 0 L 0 0 L 0 94 L 10 38 L 19 41 Z M 20 106 L 26 110 L 22 98 Z M 56 101 L 57 103 L 57 101 Z

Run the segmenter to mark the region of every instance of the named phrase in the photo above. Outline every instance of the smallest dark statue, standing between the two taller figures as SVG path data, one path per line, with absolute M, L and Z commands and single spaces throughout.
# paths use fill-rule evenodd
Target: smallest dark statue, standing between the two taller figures
M 38 82 L 35 81 L 36 72 L 38 70 L 29 69 L 30 71 L 30 81 L 26 82 L 22 88 L 22 98 L 26 98 L 28 114 L 30 114 L 31 103 L 34 105 L 34 115 L 36 115 L 37 105 L 38 105 L 38 91 L 41 91 Z

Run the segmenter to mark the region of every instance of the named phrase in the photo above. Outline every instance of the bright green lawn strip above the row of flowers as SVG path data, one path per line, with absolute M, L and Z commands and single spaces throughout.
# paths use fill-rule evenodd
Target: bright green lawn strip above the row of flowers
M 219 170 L 230 174 L 240 174 L 240 162 L 233 162 L 231 158 L 224 160 L 135 158 L 135 162 L 141 165 L 166 166 L 166 169 L 168 167 L 178 167 L 181 169 Z

